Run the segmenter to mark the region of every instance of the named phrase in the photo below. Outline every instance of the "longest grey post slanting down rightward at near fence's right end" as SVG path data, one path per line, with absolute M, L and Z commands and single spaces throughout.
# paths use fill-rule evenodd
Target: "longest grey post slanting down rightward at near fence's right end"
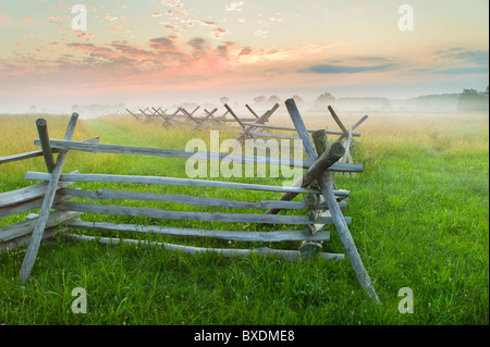
M 296 103 L 293 99 L 289 99 L 285 101 L 285 104 L 287 108 L 287 112 L 291 115 L 291 120 L 296 127 L 297 135 L 303 140 L 304 150 L 307 158 L 309 160 L 316 160 L 318 158 L 318 154 L 315 151 L 311 138 L 308 135 L 305 123 L 303 122 L 299 111 L 297 110 Z M 332 214 L 333 223 L 339 233 L 342 245 L 345 248 L 348 260 L 354 268 L 357 281 L 359 282 L 360 286 L 365 289 L 368 289 L 369 295 L 379 302 L 378 295 L 376 294 L 375 287 L 371 284 L 371 278 L 369 277 L 369 274 L 367 273 L 366 268 L 363 264 L 363 260 L 360 259 L 354 239 L 352 238 L 347 223 L 345 223 L 345 219 L 342 215 L 342 211 L 339 207 L 339 203 L 336 202 L 335 196 L 333 195 L 332 188 L 330 187 L 329 179 L 323 174 L 318 176 L 318 185 L 320 186 L 321 194 L 323 195 L 327 206 L 329 207 L 329 211 Z

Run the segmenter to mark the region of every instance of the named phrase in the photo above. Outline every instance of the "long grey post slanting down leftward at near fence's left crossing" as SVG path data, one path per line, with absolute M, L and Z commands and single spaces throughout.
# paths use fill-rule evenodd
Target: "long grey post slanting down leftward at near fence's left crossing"
M 65 140 L 70 140 L 73 137 L 75 131 L 76 121 L 78 120 L 78 113 L 73 113 L 70 120 L 66 133 L 64 135 Z M 36 256 L 39 250 L 39 245 L 42 239 L 42 234 L 45 233 L 46 223 L 49 218 L 49 213 L 54 201 L 54 196 L 57 194 L 58 183 L 60 182 L 61 171 L 63 170 L 64 161 L 66 158 L 66 151 L 58 154 L 57 163 L 51 173 L 51 178 L 49 179 L 48 188 L 46 189 L 45 200 L 39 212 L 39 216 L 34 225 L 33 235 L 30 236 L 30 241 L 27 247 L 24 260 L 22 261 L 21 271 L 19 277 L 22 282 L 26 282 L 29 278 L 30 272 L 33 271 L 34 263 L 36 261 Z

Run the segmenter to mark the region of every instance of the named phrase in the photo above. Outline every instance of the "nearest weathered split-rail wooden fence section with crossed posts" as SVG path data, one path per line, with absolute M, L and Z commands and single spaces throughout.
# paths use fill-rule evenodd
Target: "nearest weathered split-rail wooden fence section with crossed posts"
M 40 208 L 40 212 L 34 219 L 21 222 L 0 230 L 0 245 L 4 248 L 13 247 L 13 244 L 23 245 L 28 241 L 28 247 L 24 261 L 21 265 L 20 278 L 27 281 L 33 270 L 35 259 L 41 239 L 54 233 L 54 226 L 61 225 L 62 232 L 66 230 L 90 230 L 93 232 L 119 231 L 131 233 L 152 233 L 159 235 L 195 236 L 209 237 L 226 240 L 241 241 L 303 241 L 299 250 L 280 250 L 270 248 L 258 249 L 228 249 L 228 248 L 203 248 L 193 246 L 182 246 L 172 244 L 157 244 L 166 249 L 180 249 L 189 253 L 216 251 L 223 256 L 236 257 L 246 256 L 252 252 L 277 256 L 281 258 L 298 260 L 311 257 L 313 253 L 322 259 L 343 259 L 344 255 L 328 253 L 319 251 L 321 243 L 328 241 L 330 232 L 323 230 L 324 225 L 334 225 L 347 257 L 354 268 L 359 284 L 378 300 L 376 292 L 370 282 L 369 275 L 364 268 L 363 261 L 357 252 L 354 240 L 348 231 L 347 224 L 351 219 L 342 214 L 346 208 L 345 198 L 348 191 L 333 189 L 330 182 L 329 172 L 362 172 L 362 164 L 340 163 L 339 160 L 345 154 L 345 149 L 340 142 L 329 146 L 327 132 L 318 131 L 309 136 L 301 114 L 290 99 L 285 102 L 291 119 L 295 125 L 298 137 L 303 140 L 307 154 L 306 160 L 284 161 L 280 158 L 258 157 L 258 156 L 233 156 L 228 153 L 213 152 L 186 152 L 174 149 L 160 149 L 147 147 L 134 147 L 122 145 L 99 144 L 98 140 L 74 141 L 72 135 L 75 129 L 77 114 L 74 113 L 68 126 L 64 139 L 52 139 L 48 137 L 46 122 L 37 122 L 39 138 L 35 144 L 41 147 L 45 157 L 47 172 L 27 172 L 26 179 L 41 181 L 41 183 L 21 190 L 10 191 L 0 195 L 0 216 L 21 213 L 34 208 Z M 267 119 L 273 111 L 266 112 L 257 120 Z M 261 123 L 254 123 L 256 125 Z M 262 125 L 262 124 L 261 124 Z M 353 133 L 351 132 L 353 135 Z M 315 145 L 314 145 L 315 144 Z M 233 182 L 219 182 L 206 179 L 189 179 L 179 177 L 162 176 L 131 176 L 113 174 L 82 174 L 79 172 L 62 173 L 63 164 L 69 151 L 84 151 L 93 153 L 119 153 L 119 154 L 144 154 L 167 158 L 194 158 L 219 161 L 235 161 L 240 163 L 267 163 L 270 165 L 289 165 L 306 169 L 301 179 L 291 187 L 244 184 Z M 53 153 L 58 152 L 58 158 L 53 160 Z M 139 191 L 123 191 L 111 189 L 82 190 L 71 187 L 79 182 L 98 182 L 111 184 L 149 184 L 149 185 L 171 185 L 171 186 L 193 186 L 207 187 L 212 189 L 246 189 L 258 191 L 282 193 L 279 200 L 260 200 L 255 202 L 235 201 L 230 199 L 208 198 L 203 196 L 189 196 L 180 194 L 154 194 Z M 293 201 L 296 196 L 304 196 L 301 201 Z M 72 199 L 88 199 L 93 202 L 74 202 Z M 96 203 L 100 200 L 140 200 L 140 201 L 168 201 L 179 202 L 194 207 L 226 208 L 231 212 L 194 212 L 194 211 L 172 211 L 154 208 L 107 206 Z M 54 211 L 51 211 L 54 209 Z M 236 213 L 234 209 L 266 210 L 266 213 Z M 286 214 L 279 214 L 286 210 Z M 307 211 L 305 213 L 305 211 Z M 308 214 L 309 212 L 309 214 Z M 243 232 L 223 230 L 203 230 L 169 227 L 164 225 L 142 226 L 137 224 L 113 224 L 102 222 L 84 222 L 81 219 L 83 213 L 112 214 L 126 216 L 148 216 L 156 220 L 185 220 L 205 221 L 220 223 L 257 223 L 267 225 L 286 225 L 287 230 L 272 232 Z M 308 215 L 307 215 L 308 214 Z M 294 226 L 302 226 L 301 230 Z M 290 226 L 291 230 L 289 228 Z M 224 227 L 223 227 L 224 228 Z M 32 233 L 32 234 L 30 234 Z M 30 234 L 30 239 L 29 235 Z M 68 234 L 69 237 L 79 240 L 95 240 L 100 243 L 138 243 L 134 239 L 119 239 L 110 237 L 94 237 L 87 235 Z

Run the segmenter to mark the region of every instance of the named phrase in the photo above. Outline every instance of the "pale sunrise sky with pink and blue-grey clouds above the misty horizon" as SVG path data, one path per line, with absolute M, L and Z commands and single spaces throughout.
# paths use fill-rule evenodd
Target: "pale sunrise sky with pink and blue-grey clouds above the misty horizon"
M 76 4 L 87 10 L 87 30 L 72 27 Z M 399 26 L 402 4 L 413 9 L 413 30 Z M 0 104 L 485 90 L 488 7 L 487 0 L 0 0 Z

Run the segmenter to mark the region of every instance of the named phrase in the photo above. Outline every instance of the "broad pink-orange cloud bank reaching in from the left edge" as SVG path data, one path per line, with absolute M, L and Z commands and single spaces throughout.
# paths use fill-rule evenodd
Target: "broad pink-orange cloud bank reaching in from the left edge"
M 196 22 L 197 23 L 197 22 Z M 59 25 L 59 23 L 57 23 Z M 233 82 L 250 82 L 266 78 L 267 71 L 297 71 L 304 60 L 317 61 L 324 57 L 328 45 L 306 45 L 284 49 L 252 49 L 232 41 L 215 41 L 226 34 L 216 28 L 210 37 L 180 39 L 179 35 L 155 37 L 136 45 L 127 40 L 109 41 L 103 45 L 87 42 L 94 36 L 87 32 L 75 33 L 78 41 L 63 44 L 63 39 L 46 42 L 39 51 L 59 52 L 51 60 L 33 55 L 22 61 L 0 59 L 0 73 L 5 80 L 33 80 L 53 77 L 60 84 L 70 85 L 76 75 L 79 86 L 95 89 L 137 88 L 151 90 L 172 85 L 172 88 L 225 85 Z M 73 35 L 73 34 L 71 34 Z M 68 37 L 74 36 L 68 35 Z M 101 37 L 97 37 L 101 38 Z M 64 48 L 64 51 L 62 51 Z M 9 67 L 14 66 L 14 67 Z M 9 70 L 13 69 L 10 73 Z M 14 75 L 15 73 L 15 75 Z M 246 78 L 244 79 L 244 76 Z M 56 77 L 56 78 L 54 78 Z M 254 79 L 255 78 L 255 79 Z M 252 83 L 252 82 L 250 82 Z

